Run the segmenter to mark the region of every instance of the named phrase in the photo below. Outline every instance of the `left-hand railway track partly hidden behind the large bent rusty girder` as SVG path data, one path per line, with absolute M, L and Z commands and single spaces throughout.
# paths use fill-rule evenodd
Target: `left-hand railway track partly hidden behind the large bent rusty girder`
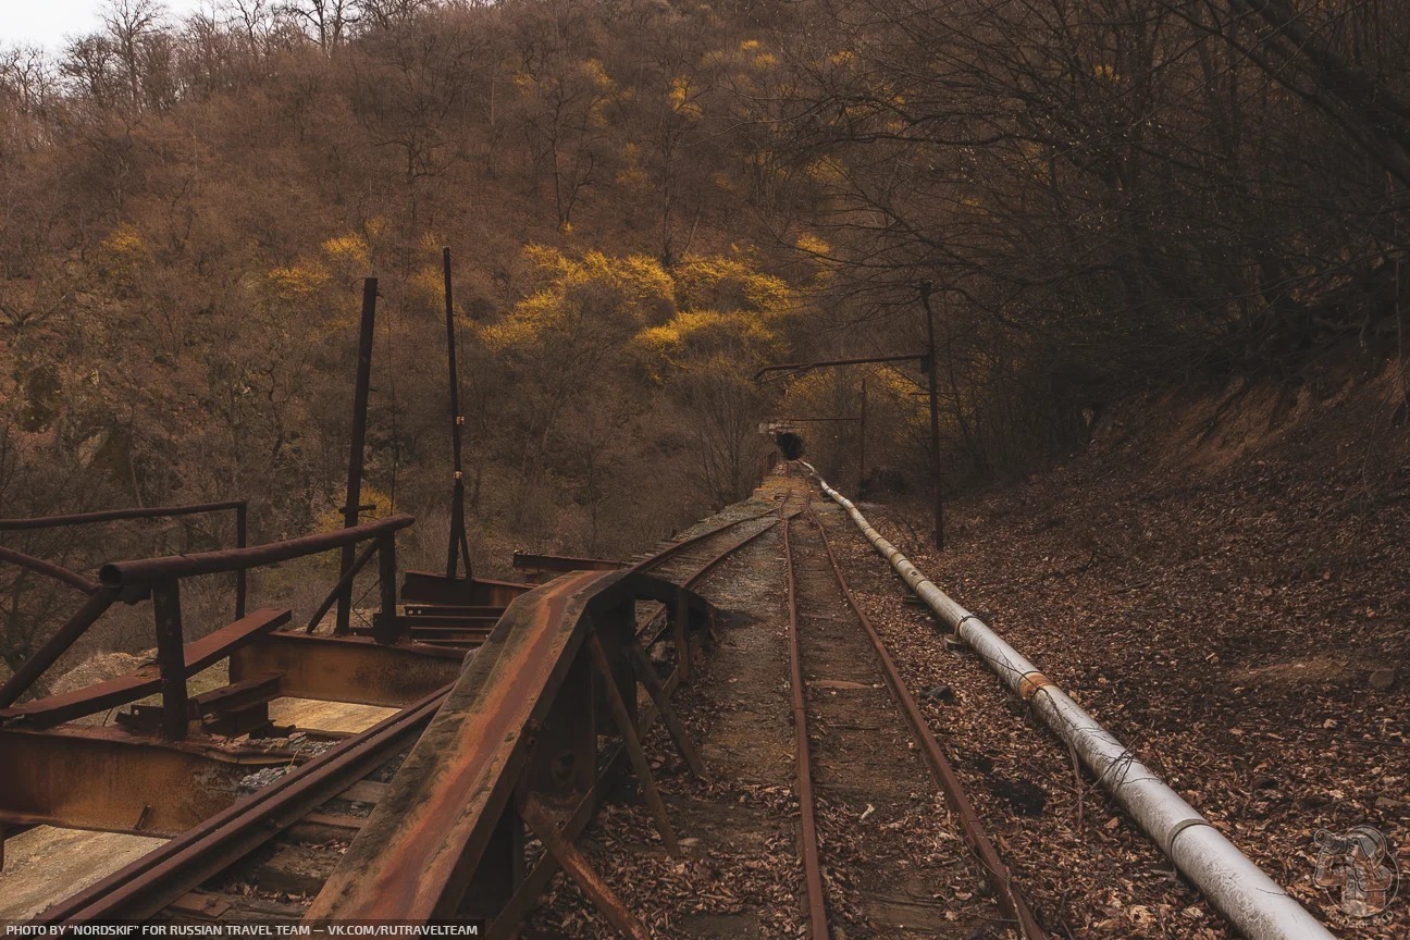
M 776 524 L 771 510 L 730 520 L 658 545 L 627 571 L 651 572 L 689 588 Z M 651 645 L 668 624 L 682 624 L 685 614 L 681 609 L 668 610 L 664 603 L 639 606 L 637 643 Z M 671 638 L 677 648 L 675 664 L 657 685 L 664 695 L 688 678 L 691 669 L 692 647 L 685 643 L 682 630 Z M 125 868 L 58 902 L 35 922 L 302 919 L 309 910 L 309 899 L 320 892 L 350 843 L 386 798 L 391 781 L 453 685 L 336 744 Z M 649 715 L 647 723 L 661 710 Z M 547 878 L 540 874 L 540 881 Z M 508 932 L 513 924 L 496 926 Z

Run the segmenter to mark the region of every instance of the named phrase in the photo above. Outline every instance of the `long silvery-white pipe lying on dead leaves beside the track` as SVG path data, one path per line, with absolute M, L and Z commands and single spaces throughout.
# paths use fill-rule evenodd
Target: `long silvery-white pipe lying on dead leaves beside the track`
M 799 461 L 801 462 L 801 461 Z M 804 464 L 804 466 L 808 466 Z M 895 568 L 940 621 L 955 630 L 1008 689 L 1072 746 L 1097 781 L 1224 916 L 1249 940 L 1332 940 L 1332 934 L 1249 861 L 1121 741 L 1053 685 L 1021 653 L 936 588 L 871 527 L 852 502 L 808 466 L 822 490 L 852 516 L 867 541 Z

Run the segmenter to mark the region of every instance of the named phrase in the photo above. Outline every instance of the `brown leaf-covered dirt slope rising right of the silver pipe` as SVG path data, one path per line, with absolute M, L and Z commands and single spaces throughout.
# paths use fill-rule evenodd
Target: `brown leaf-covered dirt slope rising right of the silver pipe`
M 1387 369 L 1335 388 L 1237 383 L 1128 407 L 1084 454 L 953 503 L 943 554 L 922 541 L 924 507 L 863 512 L 1335 933 L 1404 937 L 1404 388 Z M 1032 747 L 1059 746 L 1035 729 Z M 1070 772 L 1039 782 L 1072 788 Z M 1089 816 L 1089 833 L 1101 819 Z M 1402 875 L 1400 896 L 1369 919 L 1348 917 L 1341 892 L 1313 882 L 1318 830 L 1359 824 L 1385 834 Z M 1145 933 L 1121 908 L 1098 924 L 1204 936 L 1169 922 Z

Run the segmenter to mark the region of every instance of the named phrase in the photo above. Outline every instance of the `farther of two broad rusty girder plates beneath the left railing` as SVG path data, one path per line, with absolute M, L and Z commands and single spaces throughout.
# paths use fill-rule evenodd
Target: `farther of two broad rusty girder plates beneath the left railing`
M 269 633 L 235 650 L 230 681 L 279 675 L 295 699 L 406 707 L 460 675 L 464 650 L 365 637 Z

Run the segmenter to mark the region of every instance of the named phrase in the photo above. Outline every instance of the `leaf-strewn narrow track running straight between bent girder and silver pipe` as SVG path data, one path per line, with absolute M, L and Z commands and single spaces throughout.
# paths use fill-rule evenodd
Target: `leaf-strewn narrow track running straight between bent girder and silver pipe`
M 856 603 L 811 489 L 802 499 L 799 513 L 780 516 L 809 936 L 969 937 L 1004 922 L 1039 940 L 1042 929 Z M 935 851 L 955 829 L 916 813 L 931 779 L 967 857 Z

